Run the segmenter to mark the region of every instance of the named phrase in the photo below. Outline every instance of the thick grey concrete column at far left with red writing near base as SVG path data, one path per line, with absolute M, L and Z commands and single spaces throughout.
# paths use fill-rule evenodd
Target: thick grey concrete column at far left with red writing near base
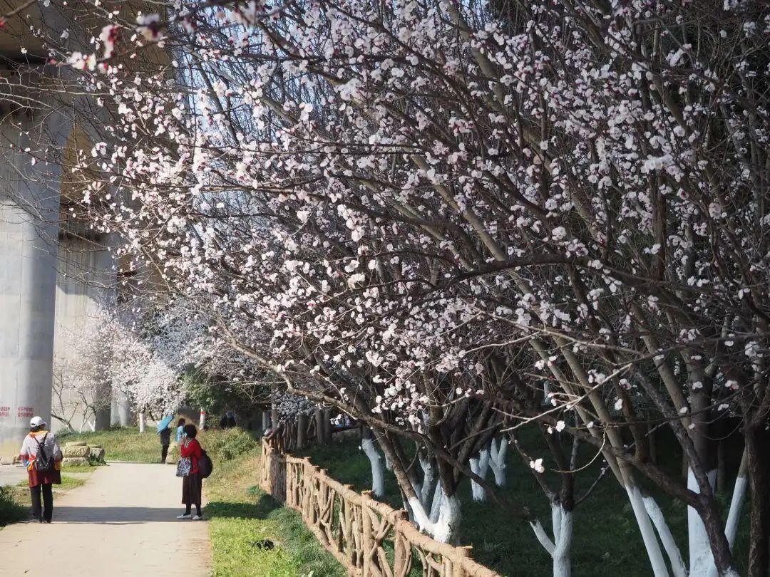
M 5 113 L 4 113 L 5 114 Z M 59 168 L 21 152 L 24 113 L 3 119 L 0 149 L 0 455 L 18 454 L 29 419 L 51 422 Z

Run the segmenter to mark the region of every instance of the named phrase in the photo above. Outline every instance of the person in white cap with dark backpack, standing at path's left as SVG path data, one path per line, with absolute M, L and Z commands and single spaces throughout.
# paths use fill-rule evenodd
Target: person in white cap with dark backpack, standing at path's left
M 53 459 L 49 470 L 39 471 L 35 466 L 39 462 L 37 457 L 40 451 L 44 459 Z M 30 420 L 29 434 L 24 438 L 18 456 L 27 468 L 32 514 L 39 522 L 50 523 L 53 519 L 52 485 L 62 484 L 62 451 L 53 433 L 45 430 L 45 421 L 40 417 L 32 417 Z

